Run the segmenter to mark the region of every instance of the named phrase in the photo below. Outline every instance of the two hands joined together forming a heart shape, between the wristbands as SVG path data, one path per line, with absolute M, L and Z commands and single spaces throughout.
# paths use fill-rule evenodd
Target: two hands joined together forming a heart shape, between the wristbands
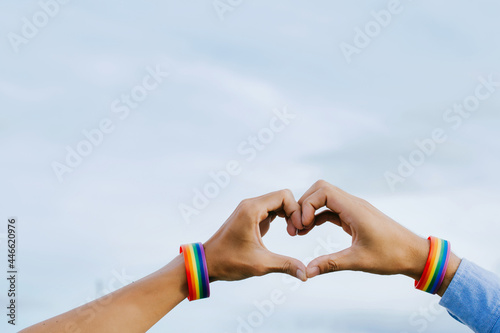
M 316 214 L 322 207 L 327 210 Z M 352 236 L 352 245 L 318 257 L 306 268 L 299 260 L 275 254 L 264 246 L 262 236 L 276 216 L 286 219 L 291 236 L 305 235 L 315 226 L 332 222 Z M 316 182 L 298 202 L 289 190 L 243 200 L 204 246 L 211 281 L 241 280 L 271 272 L 305 281 L 340 270 L 405 274 L 418 279 L 429 253 L 425 239 L 365 200 L 325 181 Z

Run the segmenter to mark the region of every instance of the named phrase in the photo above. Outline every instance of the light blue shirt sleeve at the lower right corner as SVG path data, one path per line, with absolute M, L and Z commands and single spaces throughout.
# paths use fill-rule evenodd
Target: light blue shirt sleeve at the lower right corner
M 500 332 L 500 279 L 465 258 L 439 304 L 474 332 Z

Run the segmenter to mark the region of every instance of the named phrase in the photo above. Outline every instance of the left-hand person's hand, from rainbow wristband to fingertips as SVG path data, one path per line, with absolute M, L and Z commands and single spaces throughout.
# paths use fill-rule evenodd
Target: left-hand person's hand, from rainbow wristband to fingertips
M 305 281 L 302 262 L 275 254 L 262 242 L 276 216 L 286 218 L 290 234 L 295 235 L 295 226 L 302 227 L 300 206 L 289 190 L 243 200 L 204 244 L 210 280 L 242 280 L 281 272 Z

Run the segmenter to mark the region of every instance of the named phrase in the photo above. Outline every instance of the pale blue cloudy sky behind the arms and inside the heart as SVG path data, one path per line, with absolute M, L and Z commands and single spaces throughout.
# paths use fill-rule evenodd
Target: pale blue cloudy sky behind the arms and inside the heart
M 0 251 L 7 271 L 16 217 L 19 307 L 2 332 L 155 271 L 245 198 L 288 188 L 298 199 L 318 179 L 500 274 L 499 10 L 493 1 L 3 4 Z M 234 163 L 239 172 L 212 186 Z M 277 221 L 264 242 L 307 264 L 350 239 L 331 225 L 291 238 Z M 6 304 L 6 281 L 0 288 Z M 259 310 L 273 293 L 279 304 Z M 402 276 L 297 284 L 273 274 L 214 283 L 209 300 L 181 303 L 150 331 L 468 332 L 438 300 Z

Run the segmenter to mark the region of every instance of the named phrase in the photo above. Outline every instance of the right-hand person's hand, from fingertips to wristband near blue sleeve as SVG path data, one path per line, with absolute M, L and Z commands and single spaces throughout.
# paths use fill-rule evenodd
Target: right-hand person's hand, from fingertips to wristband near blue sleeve
M 367 201 L 325 181 L 316 182 L 298 201 L 302 207 L 299 235 L 332 222 L 352 236 L 351 247 L 309 263 L 307 276 L 341 270 L 375 274 L 404 274 L 419 279 L 429 253 L 429 242 L 396 223 Z M 315 215 L 317 209 L 328 210 Z

